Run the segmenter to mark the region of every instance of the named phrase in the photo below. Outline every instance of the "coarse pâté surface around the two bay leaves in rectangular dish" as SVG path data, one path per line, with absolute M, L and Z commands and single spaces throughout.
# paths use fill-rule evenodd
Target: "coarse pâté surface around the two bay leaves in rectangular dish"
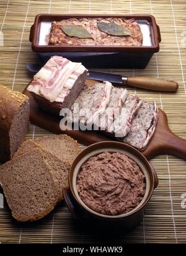
M 112 36 L 99 30 L 97 22 L 115 22 L 124 29 L 130 31 L 130 36 Z M 75 25 L 85 28 L 92 38 L 71 37 L 64 33 L 62 26 Z M 51 23 L 50 45 L 134 45 L 139 46 L 143 43 L 143 34 L 139 24 L 134 19 L 122 19 L 117 17 L 108 18 L 82 18 L 82 19 L 63 19 Z

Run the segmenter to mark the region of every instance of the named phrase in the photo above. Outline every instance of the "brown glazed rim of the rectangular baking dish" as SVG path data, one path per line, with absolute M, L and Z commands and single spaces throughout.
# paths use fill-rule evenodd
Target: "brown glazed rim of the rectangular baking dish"
M 151 34 L 153 45 L 151 46 L 99 46 L 99 45 L 38 45 L 38 37 L 40 32 L 41 21 L 61 21 L 62 19 L 83 17 L 123 17 L 125 19 L 134 18 L 135 20 L 146 20 L 151 24 Z M 154 53 L 159 51 L 159 42 L 161 42 L 161 34 L 159 26 L 152 15 L 146 14 L 38 14 L 35 22 L 30 29 L 30 42 L 32 42 L 32 50 L 34 52 L 148 52 Z

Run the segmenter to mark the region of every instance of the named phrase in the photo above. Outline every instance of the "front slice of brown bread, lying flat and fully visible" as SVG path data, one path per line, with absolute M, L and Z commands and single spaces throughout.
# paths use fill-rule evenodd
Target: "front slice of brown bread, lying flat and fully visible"
M 12 216 L 19 221 L 41 219 L 58 202 L 53 172 L 38 148 L 3 164 L 0 182 Z

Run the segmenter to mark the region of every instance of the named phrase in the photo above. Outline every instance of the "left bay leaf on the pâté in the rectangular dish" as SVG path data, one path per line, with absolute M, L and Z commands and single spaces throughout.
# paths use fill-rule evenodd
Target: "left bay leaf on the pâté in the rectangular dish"
M 84 27 L 76 26 L 76 25 L 65 25 L 61 26 L 63 32 L 70 37 L 78 37 L 78 38 L 92 38 L 92 35 L 84 29 Z

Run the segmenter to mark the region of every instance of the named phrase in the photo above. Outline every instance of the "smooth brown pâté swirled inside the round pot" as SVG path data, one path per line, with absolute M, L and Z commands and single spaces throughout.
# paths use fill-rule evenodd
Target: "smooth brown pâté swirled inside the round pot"
M 144 174 L 122 153 L 104 152 L 82 165 L 77 177 L 81 200 L 95 212 L 108 216 L 126 214 L 141 202 Z

